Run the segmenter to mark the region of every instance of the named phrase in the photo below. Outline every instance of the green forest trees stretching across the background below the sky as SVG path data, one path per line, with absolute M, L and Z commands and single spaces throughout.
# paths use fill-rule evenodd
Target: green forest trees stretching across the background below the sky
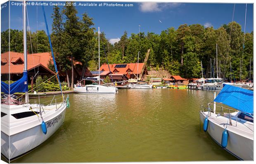
M 71 70 L 72 59 L 90 70 L 96 70 L 97 29 L 92 27 L 93 18 L 88 13 L 85 12 L 82 18 L 76 14 L 77 10 L 73 6 L 65 6 L 62 11 L 59 7 L 54 7 L 51 38 L 57 65 L 61 65 L 62 71 Z M 9 30 L 1 32 L 2 53 L 8 51 L 8 32 Z M 29 53 L 32 50 L 33 53 L 50 52 L 45 31 L 28 31 L 27 35 L 31 35 L 31 41 L 27 37 Z M 204 28 L 200 24 L 183 24 L 178 29 L 170 27 L 162 30 L 160 34 L 140 32 L 131 33 L 130 37 L 124 31 L 120 38 L 119 42 L 112 45 L 104 32 L 100 33 L 101 64 L 107 63 L 107 59 L 109 64 L 137 62 L 138 51 L 139 62 L 144 62 L 147 50 L 151 49 L 147 60 L 148 69 L 158 67 L 168 70 L 172 75 L 199 78 L 202 62 L 204 77 L 210 77 L 210 72 L 216 73 L 218 50 L 220 77 L 230 80 L 231 74 L 232 80 L 243 80 L 249 78 L 250 60 L 253 63 L 253 32 L 244 34 L 241 25 L 235 21 L 218 29 Z M 10 51 L 23 52 L 22 30 L 10 29 Z

